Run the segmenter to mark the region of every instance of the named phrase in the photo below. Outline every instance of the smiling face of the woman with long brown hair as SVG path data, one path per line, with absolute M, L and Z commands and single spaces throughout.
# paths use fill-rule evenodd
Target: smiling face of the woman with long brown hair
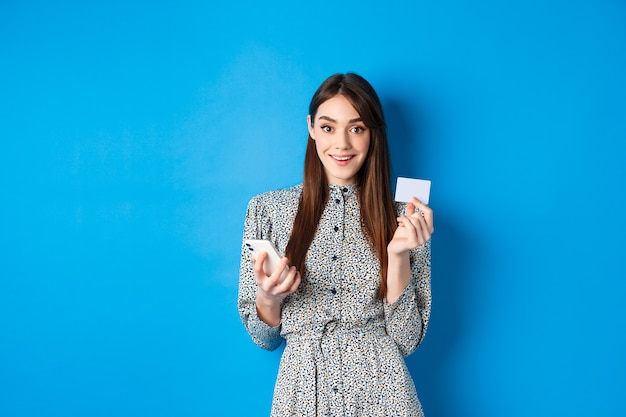
M 354 184 L 370 146 L 370 129 L 359 113 L 348 99 L 336 95 L 318 107 L 315 120 L 309 115 L 307 121 L 328 182 Z

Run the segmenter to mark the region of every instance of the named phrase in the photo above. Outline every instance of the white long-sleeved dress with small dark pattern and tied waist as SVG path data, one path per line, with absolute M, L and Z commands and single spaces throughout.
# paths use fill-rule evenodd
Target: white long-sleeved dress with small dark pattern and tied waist
M 302 186 L 254 197 L 244 239 L 268 239 L 285 252 Z M 376 297 L 380 263 L 361 230 L 355 186 L 330 196 L 306 257 L 300 288 L 283 302 L 281 324 L 256 312 L 257 285 L 242 245 L 238 307 L 253 341 L 286 341 L 272 416 L 423 416 L 404 362 L 422 341 L 431 307 L 430 241 L 410 252 L 412 278 L 387 304 Z M 404 204 L 396 204 L 401 214 Z

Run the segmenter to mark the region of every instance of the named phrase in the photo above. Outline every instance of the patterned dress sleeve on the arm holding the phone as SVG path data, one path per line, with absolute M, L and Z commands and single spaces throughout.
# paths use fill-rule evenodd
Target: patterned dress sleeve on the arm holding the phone
M 271 231 L 271 219 L 263 207 L 260 198 L 253 198 L 248 204 L 243 228 L 243 239 L 267 239 Z M 241 244 L 241 263 L 239 268 L 239 294 L 237 305 L 239 316 L 254 343 L 263 349 L 274 350 L 282 343 L 280 324 L 270 327 L 257 315 L 257 284 L 254 276 L 250 253 Z

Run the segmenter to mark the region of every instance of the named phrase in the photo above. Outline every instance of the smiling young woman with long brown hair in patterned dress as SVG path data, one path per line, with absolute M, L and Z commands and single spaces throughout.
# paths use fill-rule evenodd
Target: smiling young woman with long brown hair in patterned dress
M 286 254 L 266 275 L 241 254 L 239 312 L 253 341 L 286 341 L 272 416 L 422 416 L 404 362 L 430 316 L 433 214 L 394 203 L 382 107 L 356 74 L 309 106 L 302 184 L 254 197 L 244 239 Z M 291 265 L 288 273 L 284 267 Z

